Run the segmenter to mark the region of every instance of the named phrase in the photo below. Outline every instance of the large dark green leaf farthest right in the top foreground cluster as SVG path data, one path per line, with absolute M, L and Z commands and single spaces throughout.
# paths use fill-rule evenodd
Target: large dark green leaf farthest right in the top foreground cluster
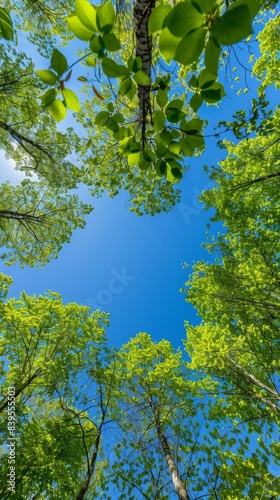
M 253 33 L 247 5 L 228 9 L 214 23 L 212 37 L 219 45 L 233 45 Z

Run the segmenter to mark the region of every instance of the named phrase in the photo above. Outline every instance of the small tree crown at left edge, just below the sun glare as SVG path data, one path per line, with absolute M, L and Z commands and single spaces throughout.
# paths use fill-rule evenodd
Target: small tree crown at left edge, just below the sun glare
M 92 207 L 46 183 L 28 179 L 0 186 L 0 245 L 8 265 L 43 266 L 56 258 L 77 227 L 84 227 Z

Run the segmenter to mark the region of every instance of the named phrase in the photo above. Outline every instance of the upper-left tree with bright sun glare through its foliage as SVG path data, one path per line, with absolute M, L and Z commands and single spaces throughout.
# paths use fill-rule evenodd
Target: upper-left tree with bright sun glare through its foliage
M 15 168 L 27 176 L 37 174 L 51 186 L 76 186 L 78 168 L 69 160 L 79 138 L 71 128 L 57 130 L 38 99 L 44 85 L 35 78 L 34 64 L 14 47 L 0 47 L 0 147 Z

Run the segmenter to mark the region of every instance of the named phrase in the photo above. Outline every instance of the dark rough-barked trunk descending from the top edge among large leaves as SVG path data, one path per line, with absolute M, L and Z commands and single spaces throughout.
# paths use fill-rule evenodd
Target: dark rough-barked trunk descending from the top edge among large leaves
M 148 35 L 148 19 L 155 8 L 155 0 L 136 0 L 133 8 L 136 38 L 136 56 L 141 57 L 142 71 L 151 78 L 152 37 Z M 151 85 L 138 85 L 142 147 L 145 144 L 147 117 L 151 114 Z

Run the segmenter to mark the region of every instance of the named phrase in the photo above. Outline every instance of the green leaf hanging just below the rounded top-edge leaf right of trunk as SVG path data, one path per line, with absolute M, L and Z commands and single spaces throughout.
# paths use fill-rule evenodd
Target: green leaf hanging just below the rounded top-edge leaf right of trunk
M 187 66 L 198 60 L 205 45 L 206 30 L 199 28 L 180 41 L 174 59 Z

